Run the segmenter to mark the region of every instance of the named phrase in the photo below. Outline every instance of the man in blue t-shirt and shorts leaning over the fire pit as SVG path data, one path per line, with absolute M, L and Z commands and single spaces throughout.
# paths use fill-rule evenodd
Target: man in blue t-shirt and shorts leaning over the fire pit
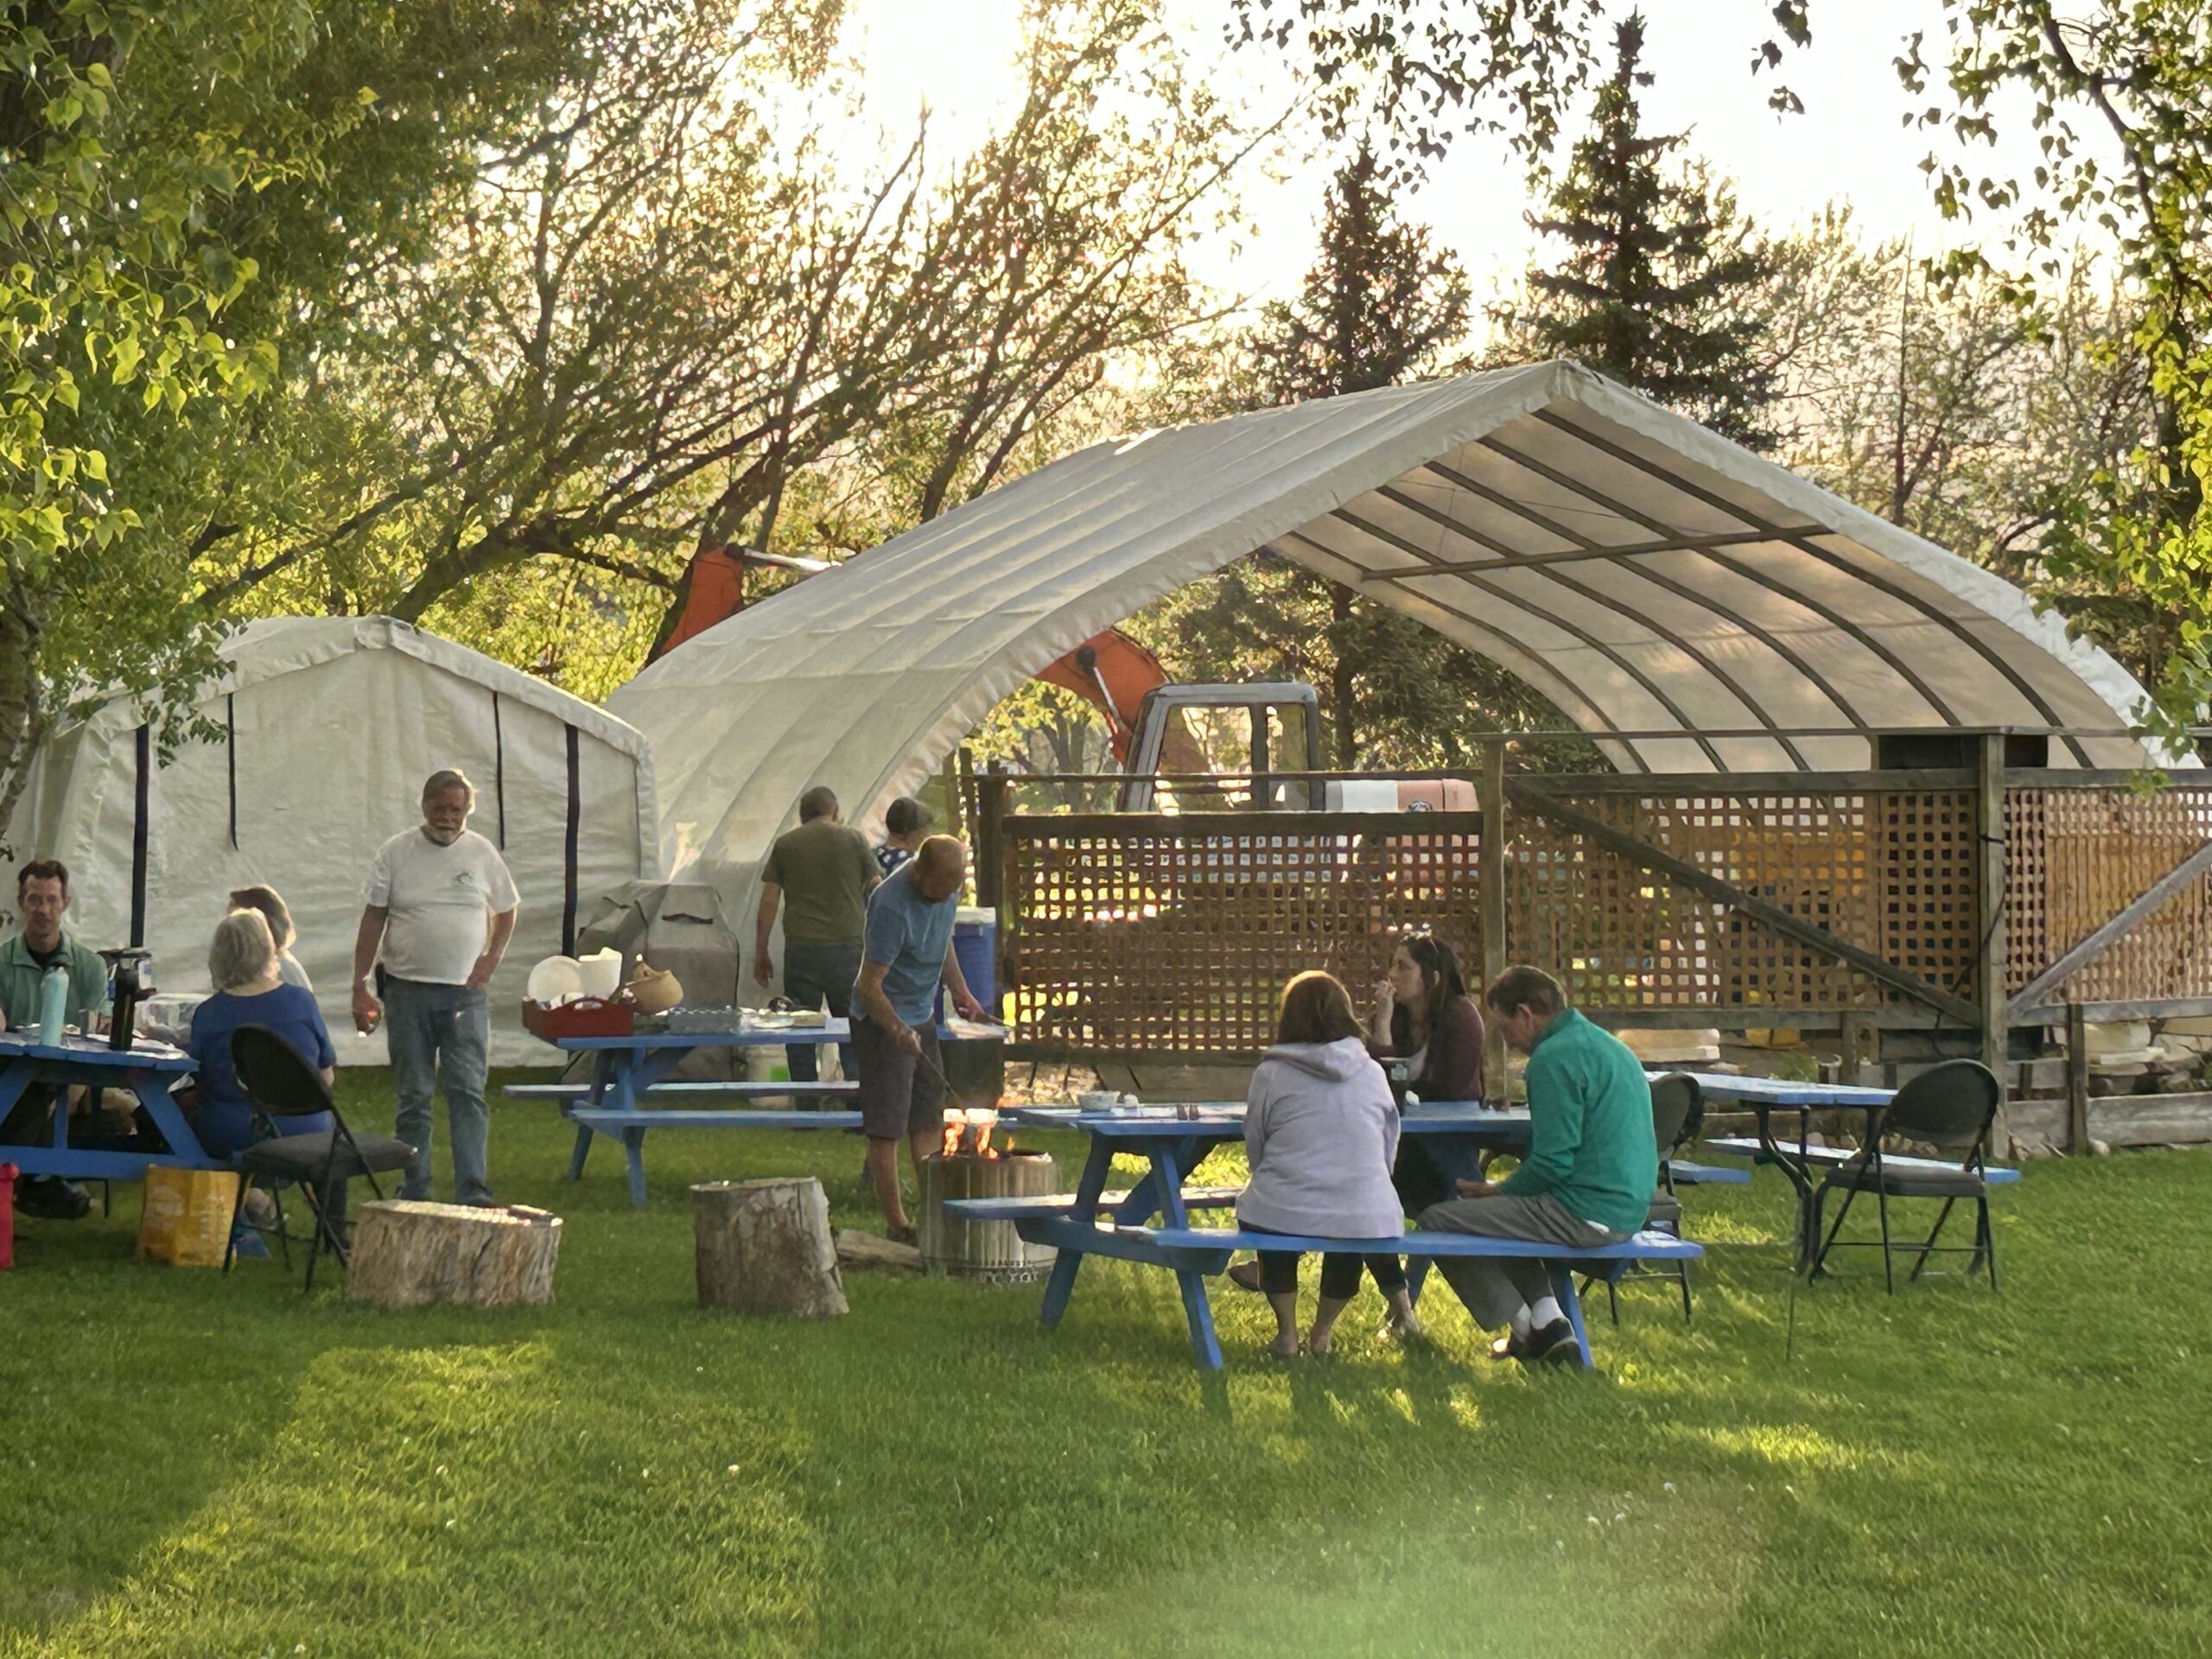
M 852 1046 L 860 1062 L 867 1179 L 889 1237 L 900 1243 L 914 1243 L 914 1228 L 898 1192 L 898 1141 L 909 1144 L 920 1177 L 922 1159 L 945 1133 L 938 982 L 951 991 L 953 1013 L 982 1018 L 953 956 L 953 916 L 964 883 L 967 847 L 951 836 L 929 836 L 867 900 L 867 947 L 852 989 Z

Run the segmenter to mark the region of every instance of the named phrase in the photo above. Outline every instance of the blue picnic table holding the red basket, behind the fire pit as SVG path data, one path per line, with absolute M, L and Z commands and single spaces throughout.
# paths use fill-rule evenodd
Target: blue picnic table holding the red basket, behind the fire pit
M 938 1026 L 940 1037 L 1000 1035 L 998 1026 L 975 1026 L 949 1022 Z M 657 1128 L 805 1128 L 805 1130 L 858 1130 L 856 1110 L 743 1110 L 743 1108 L 697 1108 L 697 1110 L 648 1110 L 646 1097 L 655 1084 L 684 1064 L 688 1055 L 703 1048 L 765 1048 L 790 1044 L 849 1042 L 852 1026 L 845 1020 L 825 1020 L 814 1026 L 759 1026 L 743 1024 L 728 1031 L 633 1031 L 617 1037 L 560 1037 L 555 1048 L 593 1057 L 591 1086 L 577 1099 L 562 1099 L 562 1117 L 575 1124 L 575 1150 L 568 1155 L 568 1179 L 584 1177 L 584 1157 L 591 1152 L 593 1135 L 606 1135 L 622 1144 L 630 1175 L 630 1203 L 646 1208 L 646 1133 Z

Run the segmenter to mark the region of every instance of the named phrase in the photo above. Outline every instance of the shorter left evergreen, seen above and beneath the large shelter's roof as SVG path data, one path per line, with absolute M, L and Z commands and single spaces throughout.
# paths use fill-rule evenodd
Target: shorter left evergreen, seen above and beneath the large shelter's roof
M 1460 263 L 1391 206 L 1387 168 L 1360 146 L 1336 175 L 1321 257 L 1296 299 L 1263 312 L 1239 407 L 1371 392 L 1444 365 L 1467 332 Z M 1152 633 L 1201 679 L 1310 679 L 1325 690 L 1336 768 L 1469 759 L 1458 732 L 1555 723 L 1517 679 L 1429 626 L 1256 553 L 1164 606 Z

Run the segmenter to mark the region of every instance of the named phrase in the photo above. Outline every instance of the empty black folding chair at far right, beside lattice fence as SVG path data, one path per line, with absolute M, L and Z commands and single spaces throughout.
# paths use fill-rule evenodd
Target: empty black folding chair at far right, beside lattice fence
M 1989 1228 L 1989 1181 L 1984 1179 L 1989 1159 L 1989 1130 L 1997 1121 L 1997 1104 L 2002 1099 L 2002 1088 L 1997 1077 L 1980 1060 L 1947 1060 L 1940 1066 L 1929 1066 L 1924 1073 L 1913 1077 L 1898 1097 L 1882 1108 L 1882 1113 L 1867 1128 L 1867 1144 L 1858 1148 L 1858 1157 L 1849 1164 L 1840 1164 L 1827 1172 L 1820 1188 L 1812 1199 L 1812 1230 L 1814 1237 L 1820 1234 L 1820 1206 L 1827 1201 L 1832 1188 L 1843 1190 L 1843 1208 L 1836 1210 L 1836 1223 L 1827 1230 L 1820 1248 L 1812 1259 L 1812 1274 L 1818 1276 L 1827 1267 L 1827 1256 L 1832 1250 L 1863 1248 L 1882 1252 L 1882 1283 L 1893 1296 L 1898 1290 L 1896 1274 L 1896 1252 L 1905 1250 L 1913 1254 L 1913 1270 L 1909 1279 L 1920 1279 L 1920 1272 L 1929 1265 L 1931 1254 L 1964 1254 L 1966 1279 L 1971 1279 L 1982 1263 L 1989 1263 L 1989 1287 L 1997 1287 L 1997 1239 Z M 1942 1152 L 1960 1155 L 1958 1168 L 1947 1164 L 1936 1164 L 1931 1159 L 1905 1159 L 1893 1152 L 1885 1152 L 1882 1141 L 1889 1137 L 1927 1141 Z M 1851 1212 L 1851 1199 L 1860 1192 L 1871 1192 L 1874 1203 L 1882 1219 L 1882 1237 L 1874 1239 L 1838 1239 L 1843 1232 L 1843 1219 Z M 1889 1239 L 1889 1201 L 1891 1199 L 1942 1199 L 1942 1210 L 1936 1212 L 1936 1225 L 1929 1237 L 1920 1243 L 1893 1245 Z M 1973 1201 L 1973 1243 L 1971 1245 L 1938 1245 L 1936 1239 L 1942 1234 L 1944 1221 L 1951 1219 L 1951 1206 L 1960 1199 Z

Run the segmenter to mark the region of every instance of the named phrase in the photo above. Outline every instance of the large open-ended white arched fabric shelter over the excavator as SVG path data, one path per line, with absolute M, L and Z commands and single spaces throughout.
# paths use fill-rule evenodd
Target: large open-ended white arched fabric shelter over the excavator
M 916 785 L 1053 657 L 1256 549 L 1520 675 L 1628 772 L 1867 768 L 1909 728 L 2146 761 L 2137 681 L 2000 577 L 1542 363 L 1093 445 L 710 628 L 608 699 L 653 739 L 664 856 L 750 914 L 810 783 Z

